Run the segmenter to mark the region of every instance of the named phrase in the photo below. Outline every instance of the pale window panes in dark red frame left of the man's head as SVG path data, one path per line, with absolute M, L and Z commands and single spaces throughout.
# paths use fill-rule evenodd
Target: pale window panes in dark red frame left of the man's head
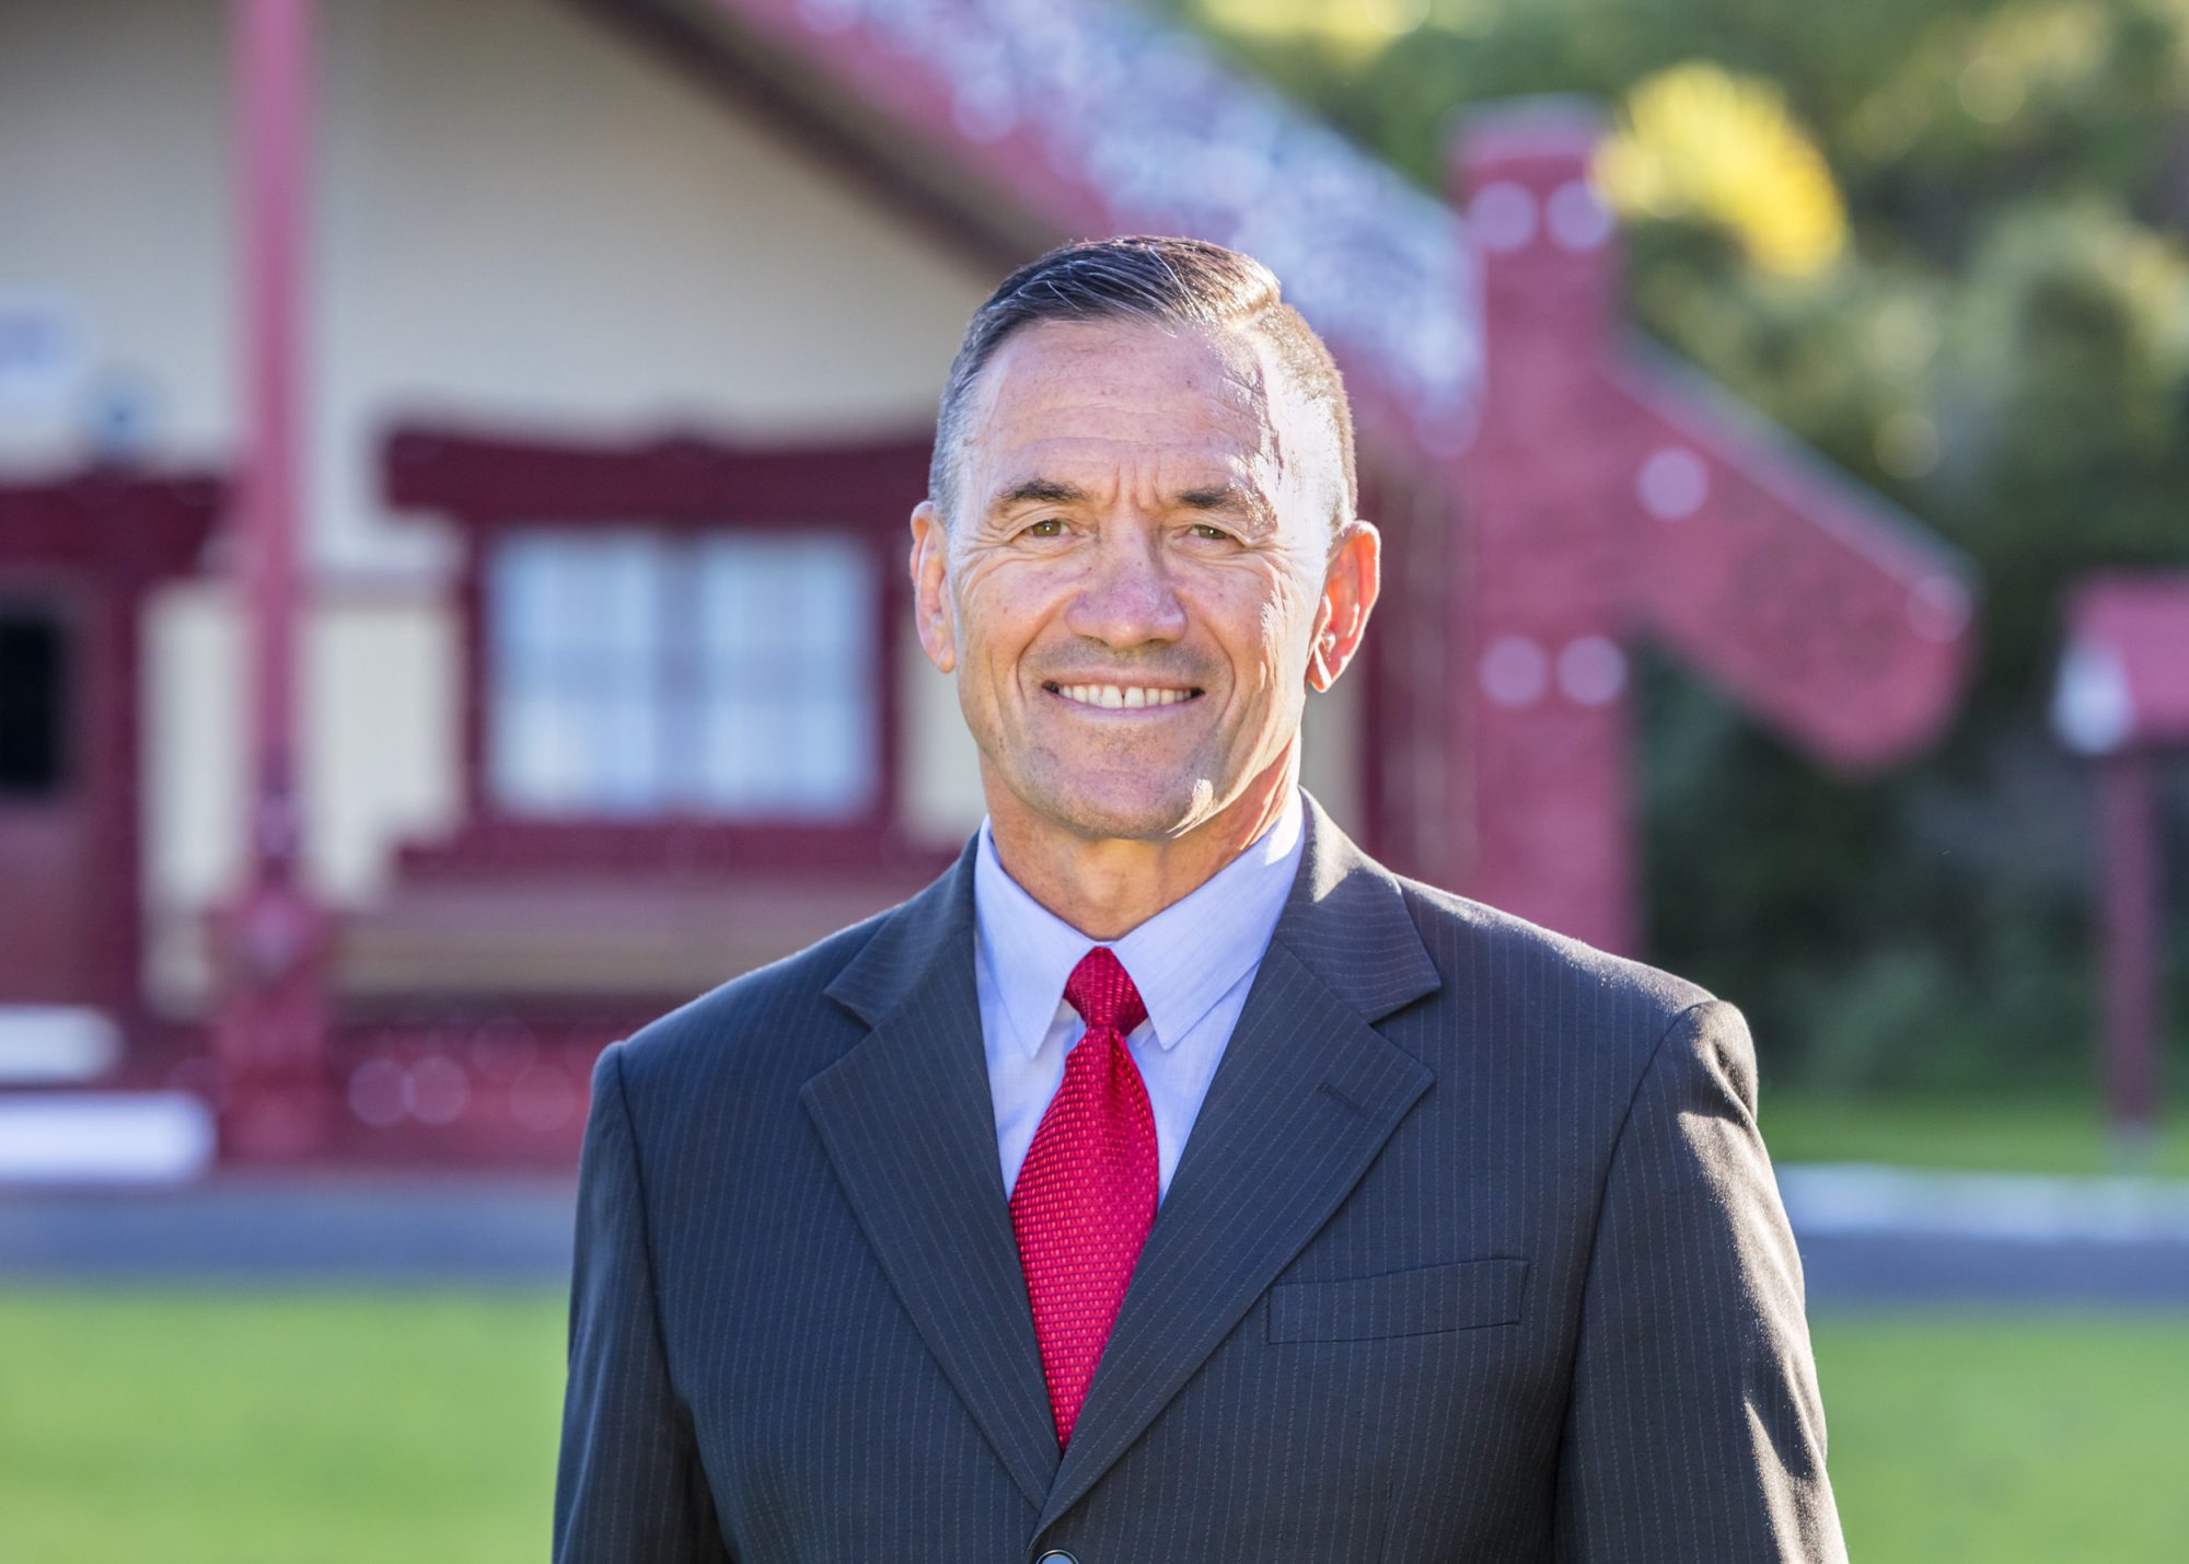
M 843 532 L 493 545 L 488 775 L 534 817 L 845 821 L 880 771 L 873 552 Z

